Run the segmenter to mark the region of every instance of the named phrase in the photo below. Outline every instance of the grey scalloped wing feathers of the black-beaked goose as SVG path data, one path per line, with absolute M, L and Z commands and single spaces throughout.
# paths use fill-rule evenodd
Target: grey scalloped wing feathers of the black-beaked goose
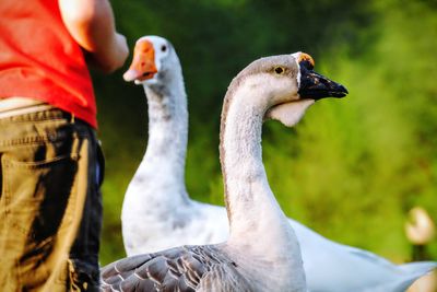
M 222 272 L 217 269 L 222 265 L 229 266 L 232 261 L 216 246 L 181 246 L 109 264 L 102 268 L 101 288 L 122 292 L 193 292 L 211 271 Z

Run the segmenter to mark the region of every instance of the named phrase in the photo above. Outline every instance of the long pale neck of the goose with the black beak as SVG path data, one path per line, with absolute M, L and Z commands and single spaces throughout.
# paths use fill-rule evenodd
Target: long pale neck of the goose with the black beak
M 268 259 L 288 258 L 286 265 L 299 267 L 297 238 L 270 189 L 262 164 L 261 129 L 268 107 L 262 92 L 239 84 L 229 87 L 225 98 L 220 151 L 228 244 Z

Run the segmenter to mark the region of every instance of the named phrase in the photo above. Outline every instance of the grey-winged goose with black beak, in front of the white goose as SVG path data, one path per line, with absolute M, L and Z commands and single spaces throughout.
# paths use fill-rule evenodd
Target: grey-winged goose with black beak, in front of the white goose
M 262 164 L 261 127 L 267 118 L 292 127 L 316 100 L 347 94 L 312 65 L 304 52 L 265 57 L 231 82 L 220 142 L 227 241 L 113 262 L 102 269 L 104 291 L 307 291 L 299 243 Z

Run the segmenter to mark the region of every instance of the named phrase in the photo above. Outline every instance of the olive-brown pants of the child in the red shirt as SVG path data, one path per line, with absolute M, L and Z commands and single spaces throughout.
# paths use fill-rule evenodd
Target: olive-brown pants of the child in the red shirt
M 48 108 L 0 115 L 0 290 L 96 291 L 103 156 L 94 130 Z

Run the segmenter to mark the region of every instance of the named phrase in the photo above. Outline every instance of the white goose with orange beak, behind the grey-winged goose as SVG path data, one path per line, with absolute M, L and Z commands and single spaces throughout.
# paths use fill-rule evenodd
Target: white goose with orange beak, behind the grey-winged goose
M 225 208 L 191 200 L 186 190 L 187 95 L 173 45 L 158 36 L 140 38 L 125 80 L 143 85 L 149 103 L 147 149 L 122 207 L 127 255 L 224 242 L 229 233 Z M 288 223 L 300 243 L 309 291 L 403 291 L 436 267 L 435 262 L 395 266 L 329 241 L 293 219 Z

